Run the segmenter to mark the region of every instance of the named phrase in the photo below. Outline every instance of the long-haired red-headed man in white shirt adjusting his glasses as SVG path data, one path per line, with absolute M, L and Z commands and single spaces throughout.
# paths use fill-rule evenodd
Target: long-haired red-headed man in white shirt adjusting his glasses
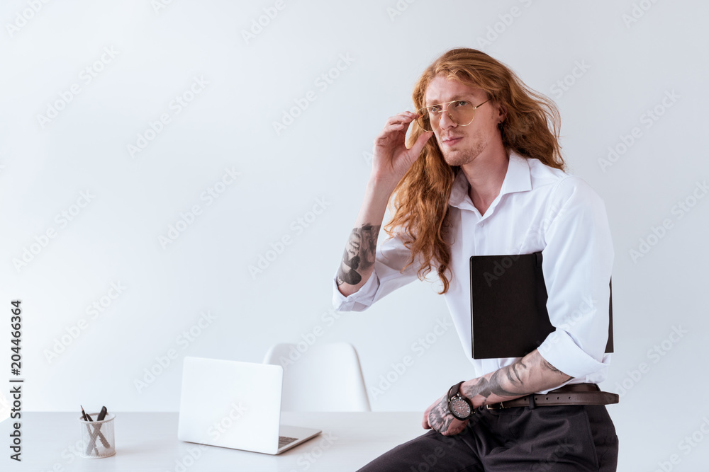
M 333 301 L 337 310 L 362 311 L 435 270 L 476 378 L 446 388 L 425 410 L 430 432 L 362 471 L 429 470 L 430 457 L 436 471 L 615 471 L 609 394 L 596 385 L 610 363 L 604 351 L 613 242 L 603 200 L 564 172 L 554 103 L 470 49 L 433 62 L 413 101 L 418 113 L 390 117 L 375 139 L 349 245 L 375 252 L 396 193 L 385 228 L 391 237 L 374 263 L 347 266 L 359 277 L 343 276 L 340 266 Z M 358 238 L 363 231 L 374 236 L 367 243 Z M 472 359 L 469 257 L 536 251 L 555 330 L 523 358 Z M 579 405 L 579 391 L 591 400 Z M 523 400 L 510 403 L 516 398 Z

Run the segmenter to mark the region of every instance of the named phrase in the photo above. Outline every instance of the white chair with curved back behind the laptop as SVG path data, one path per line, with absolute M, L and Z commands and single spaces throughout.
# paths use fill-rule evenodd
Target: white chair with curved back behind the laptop
M 283 367 L 281 410 L 372 411 L 357 350 L 350 343 L 280 343 L 268 350 L 263 363 Z

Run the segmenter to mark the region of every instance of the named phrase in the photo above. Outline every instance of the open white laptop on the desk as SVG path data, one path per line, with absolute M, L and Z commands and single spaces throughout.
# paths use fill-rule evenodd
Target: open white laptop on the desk
M 281 454 L 320 434 L 281 425 L 283 367 L 185 357 L 177 437 L 181 441 Z

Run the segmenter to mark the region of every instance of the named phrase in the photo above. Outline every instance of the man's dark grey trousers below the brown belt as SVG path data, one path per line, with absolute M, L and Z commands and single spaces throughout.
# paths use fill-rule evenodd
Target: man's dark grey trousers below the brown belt
M 430 430 L 360 472 L 615 471 L 618 436 L 603 405 L 478 408 L 455 436 Z

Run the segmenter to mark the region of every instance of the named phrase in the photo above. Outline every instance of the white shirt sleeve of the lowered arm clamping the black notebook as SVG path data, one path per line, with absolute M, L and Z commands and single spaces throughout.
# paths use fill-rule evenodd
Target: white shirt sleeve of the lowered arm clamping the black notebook
M 538 350 L 564 374 L 581 377 L 606 367 L 613 240 L 603 200 L 581 178 L 561 180 L 545 211 L 542 271 L 556 329 Z

